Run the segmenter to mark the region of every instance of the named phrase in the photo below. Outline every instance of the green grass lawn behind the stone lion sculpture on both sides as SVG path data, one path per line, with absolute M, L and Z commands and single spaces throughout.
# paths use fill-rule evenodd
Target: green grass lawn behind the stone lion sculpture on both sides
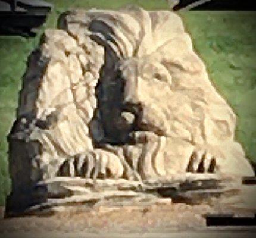
M 68 8 L 119 8 L 136 4 L 148 10 L 167 9 L 166 0 L 47 0 L 54 10 L 35 38 L 0 36 L 0 205 L 10 191 L 6 136 L 15 118 L 21 77 L 27 57 L 46 27 L 55 27 Z M 256 12 L 180 12 L 195 50 L 210 78 L 238 115 L 236 138 L 256 162 Z

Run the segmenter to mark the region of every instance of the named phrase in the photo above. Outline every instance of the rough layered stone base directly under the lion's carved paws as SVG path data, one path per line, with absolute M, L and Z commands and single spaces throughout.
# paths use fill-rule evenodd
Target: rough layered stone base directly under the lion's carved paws
M 43 183 L 43 184 L 42 184 Z M 219 203 L 236 210 L 236 213 L 253 214 L 255 186 L 244 186 L 232 177 L 220 179 L 214 174 L 180 174 L 170 180 L 148 180 L 143 183 L 126 179 L 84 179 L 55 177 L 39 183 L 48 188 L 48 200 L 31 206 L 24 214 L 46 215 L 57 212 L 61 206 L 83 204 L 85 206 L 134 206 L 142 209 L 148 205 L 165 203 L 211 204 Z

